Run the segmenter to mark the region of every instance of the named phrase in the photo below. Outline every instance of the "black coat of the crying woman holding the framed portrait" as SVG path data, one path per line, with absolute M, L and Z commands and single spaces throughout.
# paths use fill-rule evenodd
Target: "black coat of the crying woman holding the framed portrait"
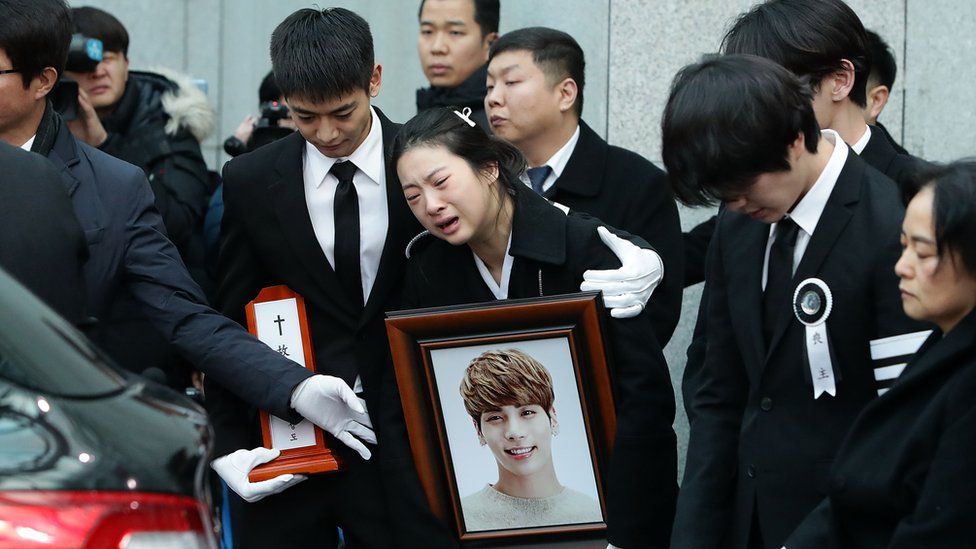
M 576 293 L 587 269 L 619 268 L 620 262 L 597 235 L 599 220 L 580 213 L 566 216 L 529 189 L 519 191 L 510 249 L 515 258 L 510 298 L 539 296 L 540 280 L 542 295 Z M 433 237 L 419 248 L 408 266 L 405 307 L 494 301 L 470 248 Z M 604 478 L 609 539 L 620 547 L 667 547 L 677 492 L 674 393 L 661 347 L 647 337 L 649 317 L 645 311 L 630 319 L 607 318 L 617 433 Z M 388 385 L 395 386 L 395 380 Z M 402 425 L 402 419 L 392 421 Z M 397 438 L 409 452 L 406 432 L 401 430 Z

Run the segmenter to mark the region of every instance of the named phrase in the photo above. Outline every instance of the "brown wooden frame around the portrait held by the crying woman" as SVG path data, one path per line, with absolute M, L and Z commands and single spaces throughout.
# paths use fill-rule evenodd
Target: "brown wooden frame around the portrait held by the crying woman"
M 604 316 L 603 303 L 596 292 L 388 313 L 387 335 L 417 473 L 432 511 L 453 527 L 462 543 L 606 539 L 604 486 L 616 432 L 616 416 L 609 348 L 604 343 Z M 476 420 L 472 415 L 462 420 L 456 418 L 457 405 L 450 399 L 460 402 L 461 396 L 458 385 L 446 380 L 463 376 L 467 363 L 462 362 L 461 357 L 481 349 L 531 347 L 555 357 L 557 354 L 554 353 L 561 352 L 559 344 L 550 345 L 550 342 L 559 341 L 568 345 L 571 365 L 559 365 L 558 368 L 571 371 L 572 378 L 556 372 L 550 365 L 546 367 L 553 372 L 554 385 L 558 376 L 567 380 L 563 383 L 564 388 L 575 385 L 581 415 L 581 422 L 577 424 L 582 425 L 585 443 L 581 444 L 586 448 L 583 452 L 577 446 L 579 452 L 563 455 L 588 454 L 598 494 L 600 520 L 579 524 L 516 524 L 487 530 L 469 528 L 471 521 L 465 519 L 464 497 L 459 491 L 459 485 L 467 480 L 459 476 L 457 469 L 463 463 L 454 462 L 455 456 L 461 455 L 457 446 L 467 443 L 458 442 L 461 438 L 456 433 L 460 427 L 454 427 L 452 431 L 451 425 L 466 421 L 470 429 L 468 435 L 474 439 L 476 431 L 484 445 L 481 429 L 484 423 L 474 423 Z M 553 350 L 545 351 L 546 346 Z M 448 358 L 455 356 L 456 360 Z M 438 360 L 442 364 L 438 364 Z M 439 387 L 438 380 L 446 386 Z M 569 397 L 562 395 L 561 401 L 557 390 L 555 409 L 560 410 L 559 422 L 565 425 L 565 407 L 567 398 L 572 403 L 573 389 L 563 389 L 563 392 Z M 446 416 L 446 408 L 453 410 L 453 415 Z M 558 431 L 554 431 L 555 434 Z M 504 457 L 494 459 L 500 473 Z M 554 454 L 550 459 L 556 461 Z M 584 471 L 585 466 L 578 470 Z

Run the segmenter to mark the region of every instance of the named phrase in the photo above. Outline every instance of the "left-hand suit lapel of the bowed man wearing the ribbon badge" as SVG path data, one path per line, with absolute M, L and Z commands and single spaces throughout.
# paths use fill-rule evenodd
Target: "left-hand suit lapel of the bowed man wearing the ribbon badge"
M 766 348 L 762 336 L 762 267 L 769 225 L 748 220 L 740 214 L 725 212 L 720 215 L 740 217 L 730 224 L 728 244 L 723 246 L 727 287 L 735 288 L 734 293 L 729 293 L 729 313 L 734 319 L 733 326 L 741 323 L 743 327 L 740 337 L 745 335 L 747 341 L 742 351 L 752 355 L 752 360 L 747 362 L 760 369 Z

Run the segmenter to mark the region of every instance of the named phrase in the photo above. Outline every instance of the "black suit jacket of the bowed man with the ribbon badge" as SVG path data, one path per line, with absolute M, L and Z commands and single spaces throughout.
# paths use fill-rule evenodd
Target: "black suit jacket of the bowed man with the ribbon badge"
M 793 278 L 817 277 L 833 294 L 827 330 L 840 381 L 836 396 L 817 400 L 792 292 L 769 349 L 763 339 L 769 225 L 719 214 L 673 547 L 746 547 L 754 510 L 766 547 L 780 547 L 823 497 L 840 441 L 877 396 L 869 342 L 922 329 L 902 312 L 893 270 L 903 212 L 891 182 L 850 154 Z

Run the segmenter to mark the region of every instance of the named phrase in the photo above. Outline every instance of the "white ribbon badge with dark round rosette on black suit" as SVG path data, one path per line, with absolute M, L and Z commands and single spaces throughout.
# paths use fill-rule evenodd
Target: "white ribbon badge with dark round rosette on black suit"
M 837 380 L 830 359 L 830 343 L 827 340 L 827 317 L 834 300 L 827 283 L 819 278 L 808 278 L 793 293 L 793 313 L 806 326 L 804 346 L 810 378 L 813 381 L 813 398 L 827 393 L 837 396 Z

